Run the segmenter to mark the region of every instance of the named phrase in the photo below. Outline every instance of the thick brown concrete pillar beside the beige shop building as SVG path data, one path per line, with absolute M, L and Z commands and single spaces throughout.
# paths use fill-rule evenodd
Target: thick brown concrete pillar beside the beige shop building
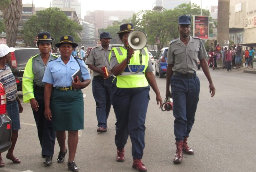
M 217 42 L 228 45 L 229 39 L 229 0 L 218 0 Z

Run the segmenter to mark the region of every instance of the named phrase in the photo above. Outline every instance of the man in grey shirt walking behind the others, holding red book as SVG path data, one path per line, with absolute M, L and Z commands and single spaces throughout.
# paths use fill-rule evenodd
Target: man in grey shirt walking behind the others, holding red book
M 109 46 L 112 37 L 108 32 L 100 34 L 101 45 L 92 48 L 87 58 L 86 65 L 93 71 L 92 94 L 96 102 L 96 115 L 98 119 L 97 132 L 107 131 L 107 119 L 111 107 L 111 83 L 113 73 L 110 71 L 108 60 L 111 47 Z M 107 67 L 108 76 L 102 70 Z

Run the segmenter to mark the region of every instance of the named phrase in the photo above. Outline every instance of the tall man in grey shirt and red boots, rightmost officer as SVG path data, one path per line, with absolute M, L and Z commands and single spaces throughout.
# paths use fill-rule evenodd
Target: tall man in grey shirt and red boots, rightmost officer
M 195 121 L 199 100 L 200 81 L 196 76 L 197 58 L 200 60 L 204 74 L 209 81 L 211 97 L 215 94 L 208 64 L 205 60 L 207 53 L 204 44 L 199 38 L 189 35 L 191 18 L 186 15 L 180 16 L 178 24 L 180 38 L 169 44 L 167 54 L 165 94 L 166 97 L 172 97 L 173 100 L 174 135 L 177 147 L 174 163 L 182 162 L 183 152 L 194 154 L 194 151 L 187 145 L 187 139 Z

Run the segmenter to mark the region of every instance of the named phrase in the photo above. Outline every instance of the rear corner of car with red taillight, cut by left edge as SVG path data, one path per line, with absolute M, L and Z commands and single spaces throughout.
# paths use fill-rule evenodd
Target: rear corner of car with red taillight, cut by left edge
M 12 121 L 6 113 L 6 96 L 4 86 L 1 82 L 0 99 L 0 152 L 4 152 L 12 145 Z

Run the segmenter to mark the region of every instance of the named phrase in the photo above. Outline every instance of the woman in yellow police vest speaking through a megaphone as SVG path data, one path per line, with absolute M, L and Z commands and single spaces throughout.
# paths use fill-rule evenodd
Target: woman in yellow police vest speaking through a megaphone
M 110 67 L 116 76 L 112 82 L 111 100 L 116 114 L 117 147 L 116 161 L 124 161 L 124 146 L 130 135 L 132 141 L 132 167 L 139 171 L 147 171 L 141 162 L 145 147 L 145 120 L 149 102 L 149 85 L 156 93 L 157 105 L 162 105 L 162 98 L 158 90 L 153 67 L 148 56 L 147 48 L 141 50 L 142 64 L 140 65 L 140 51 L 131 47 L 127 55 L 128 34 L 133 31 L 132 23 L 120 26 L 120 40 L 123 47 L 113 48 L 109 54 Z M 132 72 L 130 72 L 128 65 Z M 135 74 L 135 72 L 138 73 Z M 149 85 L 148 85 L 149 84 Z

